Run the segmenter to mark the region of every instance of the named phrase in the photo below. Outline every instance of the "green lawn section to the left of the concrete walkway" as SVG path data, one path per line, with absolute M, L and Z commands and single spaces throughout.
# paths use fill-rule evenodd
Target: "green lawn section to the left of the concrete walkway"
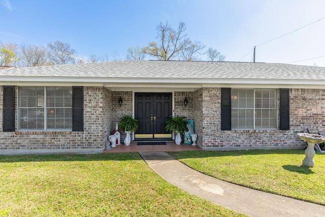
M 0 156 L 0 216 L 242 216 L 156 175 L 138 153 Z

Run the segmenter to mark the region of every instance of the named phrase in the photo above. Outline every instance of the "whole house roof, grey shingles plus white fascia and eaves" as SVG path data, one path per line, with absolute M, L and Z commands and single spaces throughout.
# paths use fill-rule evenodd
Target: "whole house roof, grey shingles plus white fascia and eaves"
M 0 70 L 0 85 L 104 86 L 112 90 L 194 90 L 201 87 L 325 89 L 325 68 L 269 63 L 127 60 L 3 69 Z

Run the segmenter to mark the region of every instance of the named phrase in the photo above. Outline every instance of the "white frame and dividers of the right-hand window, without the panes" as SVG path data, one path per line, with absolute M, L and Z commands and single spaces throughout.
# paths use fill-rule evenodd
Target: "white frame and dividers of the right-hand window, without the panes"
M 253 127 L 252 128 L 239 128 L 239 127 L 234 127 L 232 125 L 232 130 L 275 130 L 278 128 L 278 89 L 272 89 L 272 88 L 233 88 L 232 89 L 232 93 L 233 93 L 233 90 L 253 90 L 253 108 L 240 108 L 240 107 L 233 107 L 233 103 L 232 103 L 232 110 L 233 109 L 252 109 L 253 111 Z M 255 100 L 256 100 L 256 90 L 268 90 L 268 91 L 274 91 L 274 96 L 275 96 L 275 108 L 271 108 L 269 107 L 269 109 L 275 109 L 275 127 L 272 127 L 272 128 L 256 128 L 255 126 L 255 121 L 256 121 L 256 109 L 259 109 L 259 108 L 256 108 L 256 105 L 255 105 Z M 233 101 L 233 95 L 231 96 L 231 100 Z M 270 112 L 269 112 L 269 116 L 270 116 Z M 270 119 L 270 118 L 269 118 Z M 232 120 L 233 121 L 233 115 L 232 115 Z

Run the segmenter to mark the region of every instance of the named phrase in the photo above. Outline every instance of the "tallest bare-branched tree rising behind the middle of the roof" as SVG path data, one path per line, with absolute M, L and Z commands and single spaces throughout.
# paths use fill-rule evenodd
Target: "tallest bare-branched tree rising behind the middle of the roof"
M 184 34 L 186 24 L 179 22 L 178 29 L 173 29 L 168 22 L 156 27 L 158 42 L 150 42 L 143 50 L 146 54 L 160 60 L 194 60 L 194 54 L 200 53 L 204 46 L 200 42 L 192 43 Z

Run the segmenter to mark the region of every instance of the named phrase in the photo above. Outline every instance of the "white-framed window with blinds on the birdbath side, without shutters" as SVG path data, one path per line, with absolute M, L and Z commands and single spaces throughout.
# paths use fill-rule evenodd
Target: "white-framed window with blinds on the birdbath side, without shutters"
M 275 129 L 276 89 L 232 89 L 232 129 Z

